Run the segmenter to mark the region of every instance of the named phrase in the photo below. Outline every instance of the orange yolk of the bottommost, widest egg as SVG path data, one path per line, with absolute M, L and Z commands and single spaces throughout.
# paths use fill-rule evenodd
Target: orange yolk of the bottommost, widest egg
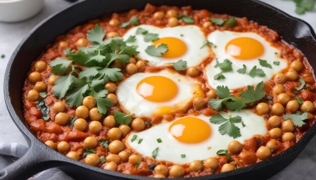
M 186 117 L 173 122 L 169 132 L 178 141 L 191 144 L 206 140 L 211 134 L 211 128 L 203 120 Z

